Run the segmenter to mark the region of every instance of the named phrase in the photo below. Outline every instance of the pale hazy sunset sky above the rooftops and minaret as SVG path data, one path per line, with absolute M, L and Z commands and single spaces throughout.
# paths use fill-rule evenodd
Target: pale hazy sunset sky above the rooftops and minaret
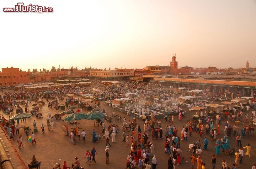
M 3 7 L 54 12 L 3 12 Z M 0 1 L 0 68 L 256 67 L 256 0 Z

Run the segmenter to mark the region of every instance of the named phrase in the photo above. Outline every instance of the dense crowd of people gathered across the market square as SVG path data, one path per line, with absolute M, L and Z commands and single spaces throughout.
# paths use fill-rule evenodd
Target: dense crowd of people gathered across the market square
M 135 86 L 135 87 L 134 87 Z M 63 95 L 66 93 L 73 93 L 76 95 L 79 95 L 81 92 L 83 93 L 90 93 L 93 95 L 93 97 L 100 97 L 103 95 L 103 99 L 106 99 L 107 97 L 105 95 L 110 96 L 110 99 L 116 99 L 120 97 L 121 93 L 138 93 L 139 97 L 133 98 L 131 102 L 122 103 L 121 109 L 119 110 L 125 110 L 127 112 L 127 115 L 130 115 L 130 113 L 138 113 L 139 115 L 142 115 L 142 122 L 143 126 L 139 126 L 137 122 L 137 118 L 133 118 L 132 121 L 126 120 L 126 118 L 123 118 L 123 124 L 126 125 L 128 123 L 129 125 L 129 133 L 123 131 L 122 137 L 123 142 L 125 142 L 126 146 L 131 146 L 127 161 L 126 161 L 126 168 L 135 168 L 138 167 L 140 169 L 142 168 L 153 168 L 155 169 L 157 166 L 157 157 L 155 155 L 154 150 L 154 140 L 155 139 L 163 139 L 164 142 L 164 150 L 166 155 L 170 156 L 170 159 L 168 160 L 168 168 L 174 168 L 174 165 L 180 165 L 182 164 L 183 159 L 183 153 L 182 153 L 182 141 L 190 141 L 189 137 L 197 134 L 200 138 L 197 142 L 193 143 L 193 154 L 191 156 L 191 168 L 194 168 L 195 165 L 197 165 L 197 169 L 204 168 L 206 165 L 203 163 L 203 159 L 199 157 L 195 157 L 195 153 L 197 149 L 207 150 L 208 144 L 213 144 L 210 141 L 215 142 L 214 143 L 214 151 L 216 152 L 216 156 L 218 157 L 220 153 L 223 151 L 230 149 L 229 141 L 231 137 L 236 139 L 237 144 L 240 149 L 246 149 L 245 155 L 251 156 L 251 147 L 250 144 L 242 144 L 242 138 L 245 136 L 254 136 L 254 125 L 251 121 L 249 121 L 249 115 L 250 120 L 253 120 L 255 118 L 255 110 L 253 109 L 255 103 L 254 101 L 251 102 L 252 108 L 249 106 L 249 111 L 246 109 L 241 109 L 241 111 L 238 111 L 238 113 L 227 113 L 227 119 L 225 123 L 222 124 L 222 120 L 224 117 L 221 117 L 219 113 L 216 115 L 216 122 L 212 119 L 202 119 L 199 118 L 198 121 L 182 121 L 181 119 L 185 117 L 185 110 L 184 107 L 180 105 L 173 105 L 171 102 L 163 102 L 161 100 L 165 99 L 175 99 L 175 93 L 172 92 L 172 88 L 168 87 L 157 87 L 155 85 L 151 85 L 149 83 L 129 83 L 126 82 L 122 85 L 116 86 L 116 87 L 109 87 L 105 84 L 99 84 L 97 87 L 94 86 L 94 89 L 92 90 L 91 86 L 80 86 L 78 88 L 73 87 L 53 87 L 51 91 L 53 91 L 54 97 L 58 99 L 62 99 Z M 91 92 L 94 91 L 94 92 Z M 146 95 L 156 95 L 159 98 L 159 100 L 145 100 L 144 96 Z M 44 97 L 48 98 L 51 95 L 43 95 L 42 91 L 40 90 L 25 90 L 24 89 L 18 89 L 15 92 L 5 92 L 3 93 L 3 96 L 0 96 L 1 100 L 1 109 L 6 113 L 7 116 L 11 116 L 14 112 L 14 109 L 17 110 L 17 113 L 22 113 L 23 108 L 21 107 L 21 101 L 17 101 L 20 99 L 26 100 L 27 103 L 25 104 L 25 112 L 28 112 L 28 107 L 26 105 L 31 104 L 31 101 L 36 101 L 37 99 L 43 100 Z M 90 105 L 92 106 L 92 102 L 84 103 L 83 99 L 78 99 L 78 105 Z M 66 99 L 66 103 L 71 106 L 74 104 L 74 100 L 71 100 L 70 98 Z M 81 104 L 83 103 L 83 104 Z M 52 104 L 52 103 L 51 103 Z M 50 104 L 49 108 L 53 108 L 57 106 L 57 110 L 59 108 L 58 101 L 53 103 L 53 106 Z M 196 104 L 191 103 L 191 107 L 196 106 Z M 6 107 L 8 106 L 8 107 Z M 98 104 L 95 103 L 95 106 L 98 106 Z M 112 104 L 111 104 L 112 106 Z M 81 109 L 78 109 L 76 112 L 82 112 L 83 106 L 81 106 Z M 163 131 L 163 128 L 161 126 L 161 119 L 158 118 L 156 115 L 156 112 L 153 110 L 153 108 L 161 109 L 167 112 L 165 116 L 165 121 L 170 122 L 171 124 L 167 125 L 165 130 Z M 250 112 L 252 110 L 252 112 Z M 172 114 L 171 112 L 175 112 Z M 14 115 L 14 114 L 13 114 Z M 200 114 L 201 115 L 201 114 Z M 177 117 L 177 120 L 175 121 Z M 55 123 L 55 117 L 48 114 L 47 123 L 46 125 L 40 124 L 42 133 L 44 133 L 44 127 L 48 127 L 48 131 L 53 130 L 53 124 Z M 223 118 L 223 119 L 222 119 Z M 244 121 L 242 124 L 241 129 L 239 128 L 238 124 L 235 124 L 235 120 Z M 106 139 L 106 164 L 109 163 L 109 149 L 108 146 L 111 146 L 111 142 L 116 142 L 115 135 L 118 132 L 116 130 L 116 127 L 106 128 L 104 120 L 99 119 L 98 121 L 102 125 L 103 131 L 95 131 L 95 129 L 92 130 L 92 142 L 98 142 L 101 141 L 102 136 L 105 136 Z M 183 128 L 176 127 L 176 123 L 184 123 Z M 17 121 L 18 123 L 18 121 Z M 98 123 L 98 124 L 99 124 Z M 15 121 L 12 120 L 6 120 L 5 116 L 1 116 L 1 124 L 5 127 L 7 127 L 7 130 L 10 134 L 10 138 L 14 139 L 14 132 L 15 132 Z M 35 123 L 36 124 L 36 123 Z M 34 124 L 33 124 L 34 126 Z M 104 127 L 103 127 L 104 126 Z M 36 125 L 34 126 L 36 128 Z M 141 131 L 140 127 L 143 128 L 143 132 Z M 222 128 L 223 127 L 223 128 Z M 106 128 L 106 129 L 105 129 Z M 223 131 L 223 132 L 221 132 Z M 78 127 L 74 127 L 73 130 L 70 130 L 68 125 L 63 126 L 63 133 L 64 135 L 67 135 L 70 137 L 70 142 L 74 143 L 76 138 L 80 140 L 80 135 L 82 135 L 82 140 L 85 141 L 86 133 L 84 130 L 82 132 Z M 224 133 L 224 134 L 222 134 Z M 17 135 L 16 130 L 16 135 Z M 150 135 L 151 134 L 151 135 Z M 26 133 L 27 135 L 27 133 Z M 27 135 L 28 136 L 28 135 Z M 77 137 L 76 137 L 77 136 Z M 210 140 L 208 140 L 208 137 Z M 104 138 L 104 137 L 103 137 Z M 111 138 L 111 141 L 110 141 Z M 201 139 L 202 138 L 202 139 Z M 35 142 L 34 135 L 32 137 L 32 143 Z M 151 141 L 149 141 L 151 140 Z M 201 142 L 202 140 L 202 142 Z M 21 148 L 22 145 L 22 137 L 19 137 L 19 148 Z M 202 146 L 202 145 L 203 146 Z M 242 146 L 246 145 L 246 146 Z M 236 153 L 236 160 L 239 159 L 239 162 L 242 163 L 242 156 L 243 153 L 240 150 Z M 96 152 L 96 151 L 95 151 Z M 87 154 L 88 153 L 88 154 Z M 202 152 L 204 153 L 204 152 Z M 95 153 L 94 153 L 95 155 Z M 89 150 L 86 152 L 86 159 L 87 162 L 95 161 L 95 158 L 93 157 L 92 151 Z M 78 162 L 77 162 L 78 163 Z M 212 165 L 214 166 L 216 163 L 215 156 L 212 157 Z M 223 162 L 224 165 L 226 165 L 225 161 Z M 238 163 L 239 164 L 239 163 Z M 235 163 L 235 167 L 238 167 L 238 164 Z M 58 164 L 59 165 L 59 164 Z M 223 165 L 223 166 L 224 166 Z M 198 168 L 199 166 L 199 168 Z M 64 168 L 64 164 L 63 164 Z M 225 169 L 225 167 L 223 167 Z M 226 165 L 227 168 L 227 165 Z

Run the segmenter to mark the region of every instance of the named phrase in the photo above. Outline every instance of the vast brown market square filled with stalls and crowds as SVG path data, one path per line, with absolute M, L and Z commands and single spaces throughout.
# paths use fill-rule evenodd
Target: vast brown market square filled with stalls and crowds
M 21 157 L 24 164 L 28 166 L 35 155 L 36 160 L 41 162 L 41 169 L 52 169 L 55 164 L 60 164 L 62 167 L 64 161 L 70 167 L 76 161 L 75 157 L 78 157 L 80 165 L 84 168 L 126 168 L 127 159 L 129 161 L 129 158 L 134 158 L 134 162 L 132 160 L 128 163 L 128 168 L 133 163 L 135 168 L 139 168 L 138 155 L 142 156 L 142 154 L 138 151 L 139 148 L 141 150 L 144 147 L 151 168 L 153 168 L 155 159 L 157 164 L 154 165 L 155 168 L 168 168 L 170 167 L 168 164 L 170 154 L 166 150 L 165 141 L 167 136 L 170 136 L 170 146 L 174 141 L 177 149 L 180 147 L 181 150 L 178 150 L 179 155 L 177 155 L 178 153 L 173 155 L 173 151 L 171 151 L 171 157 L 176 159 L 173 160 L 172 158 L 175 169 L 191 168 L 193 157 L 191 160 L 189 147 L 194 143 L 197 143 L 197 149 L 202 150 L 199 152 L 201 152 L 200 155 L 202 162 L 205 163 L 205 168 L 212 168 L 213 155 L 217 159 L 216 168 L 222 167 L 223 159 L 225 159 L 227 166 L 232 168 L 233 163 L 235 163 L 235 153 L 226 153 L 226 150 L 222 152 L 222 148 L 227 144 L 226 149 L 231 150 L 232 147 L 235 147 L 235 152 L 240 149 L 240 146 L 242 147 L 244 154 L 241 163 L 238 163 L 239 168 L 249 169 L 254 165 L 255 162 L 252 159 L 255 157 L 255 136 L 253 133 L 255 125 L 251 122 L 255 117 L 254 95 L 252 97 L 237 97 L 232 95 L 232 92 L 225 93 L 224 89 L 220 92 L 174 87 L 166 84 L 157 81 L 148 83 L 95 81 L 4 89 L 1 93 L 1 118 L 4 117 L 5 121 L 1 121 L 0 134 L 1 137 L 7 136 L 8 139 L 4 140 L 5 144 L 11 143 L 16 148 L 16 156 L 9 155 L 11 156 L 10 162 L 17 167 L 18 162 L 15 158 Z M 48 93 L 45 93 L 47 91 Z M 205 97 L 206 95 L 208 97 Z M 10 122 L 9 116 L 11 118 L 16 114 L 22 114 L 21 109 L 23 109 L 24 114 L 27 111 L 33 115 L 18 121 L 10 119 Z M 106 162 L 106 136 L 105 131 L 103 132 L 101 118 L 95 120 L 71 118 L 71 120 L 65 121 L 73 112 L 74 114 L 77 112 L 86 114 L 93 110 L 105 116 L 102 119 L 105 130 L 112 131 L 113 128 L 109 128 L 111 124 L 117 124 L 119 127 L 114 136 L 110 133 L 109 144 L 107 144 L 109 162 Z M 113 115 L 114 117 L 111 117 Z M 52 116 L 54 118 L 51 118 Z M 120 120 L 117 117 L 121 117 Z M 49 120 L 49 125 L 47 125 L 47 120 Z M 100 123 L 98 123 L 99 121 Z M 36 123 L 36 130 L 34 123 Z M 128 127 L 125 129 L 128 142 L 123 141 L 124 130 L 122 127 L 124 123 Z M 136 124 L 133 125 L 134 123 Z M 12 129 L 9 129 L 9 126 L 12 128 L 12 124 L 14 125 L 14 138 L 10 138 Z M 129 124 L 131 130 L 129 130 Z M 19 127 L 18 134 L 16 134 L 16 125 Z M 45 125 L 44 132 L 41 128 L 42 125 Z M 63 131 L 64 125 L 69 128 L 68 134 L 66 130 Z M 139 126 L 137 127 L 137 125 Z M 207 126 L 209 126 L 208 129 Z M 26 129 L 28 129 L 28 138 L 32 136 L 33 132 L 33 141 L 31 141 L 32 139 L 28 140 Z M 77 131 L 74 131 L 75 136 L 71 140 L 70 133 L 74 129 L 79 129 L 80 132 L 85 131 L 85 141 L 83 141 L 82 134 L 78 138 Z M 186 129 L 188 130 L 187 141 L 184 138 Z M 233 130 L 235 130 L 234 135 Z M 96 140 L 95 135 L 98 134 L 101 137 Z M 148 139 L 143 140 L 145 134 Z M 241 145 L 237 141 L 236 136 L 238 134 L 241 136 Z M 17 142 L 20 135 L 23 138 L 22 145 Z M 136 145 L 133 148 L 131 148 L 131 135 L 133 135 L 133 145 Z M 206 137 L 208 140 L 207 148 L 204 147 Z M 141 142 L 139 138 L 142 138 L 143 141 Z M 219 152 L 216 150 L 218 139 L 220 139 L 219 146 L 222 146 L 219 147 Z M 200 140 L 199 145 L 198 140 Z M 247 144 L 251 145 L 251 158 L 246 154 L 245 146 Z M 93 147 L 97 152 L 95 155 L 96 163 L 86 162 L 87 150 L 91 152 Z M 137 147 L 136 150 L 135 147 Z M 203 147 L 206 150 L 203 150 Z M 172 147 L 170 149 L 173 150 Z M 154 161 L 153 156 L 155 156 Z M 142 158 L 142 161 L 145 161 L 145 158 Z M 194 163 L 194 168 L 201 169 L 201 164 Z M 25 168 L 22 165 L 19 167 Z

